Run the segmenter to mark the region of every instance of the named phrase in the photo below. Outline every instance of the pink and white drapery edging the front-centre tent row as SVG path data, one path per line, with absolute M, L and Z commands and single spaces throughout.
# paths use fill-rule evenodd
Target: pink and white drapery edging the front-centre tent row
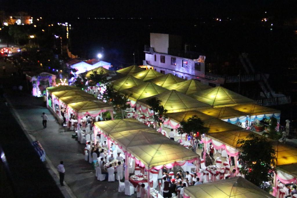
M 98 133 L 102 134 L 108 140 L 110 140 L 111 142 L 113 142 L 113 144 L 118 145 L 118 147 L 120 149 L 122 149 L 125 154 L 127 153 L 130 158 L 132 158 L 132 159 L 135 160 L 135 164 L 138 164 L 138 166 L 140 166 L 140 167 L 145 167 L 145 170 L 146 171 L 153 170 L 153 169 L 154 170 L 160 170 L 163 166 L 165 166 L 166 168 L 172 168 L 173 166 L 176 166 L 176 165 L 182 166 L 186 162 L 193 163 L 194 161 L 198 160 L 198 158 L 193 158 L 193 159 L 189 159 L 189 160 L 175 161 L 175 162 L 171 162 L 171 163 L 168 163 L 168 164 L 165 164 L 165 165 L 154 166 L 154 167 L 151 167 L 151 168 L 147 169 L 146 166 L 143 164 L 142 161 L 140 161 L 138 158 L 136 158 L 135 156 L 133 156 L 132 153 L 129 153 L 128 151 L 126 151 L 119 143 L 117 143 L 115 140 L 113 140 L 112 138 L 110 138 L 108 135 L 106 135 L 105 133 L 101 132 L 101 130 L 98 129 L 97 126 L 94 126 L 94 137 L 96 137 Z M 96 144 L 96 138 L 94 138 L 94 139 L 95 139 L 95 144 Z

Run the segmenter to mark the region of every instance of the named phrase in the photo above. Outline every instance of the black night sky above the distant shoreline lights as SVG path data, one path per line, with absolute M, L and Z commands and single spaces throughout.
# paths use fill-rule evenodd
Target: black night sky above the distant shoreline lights
M 204 0 L 204 1 L 134 1 L 134 0 L 0 0 L 0 10 L 26 11 L 33 16 L 52 19 L 73 17 L 143 17 L 143 18 L 200 18 L 245 17 L 252 18 L 268 11 L 271 15 L 296 15 L 296 1 L 273 0 Z

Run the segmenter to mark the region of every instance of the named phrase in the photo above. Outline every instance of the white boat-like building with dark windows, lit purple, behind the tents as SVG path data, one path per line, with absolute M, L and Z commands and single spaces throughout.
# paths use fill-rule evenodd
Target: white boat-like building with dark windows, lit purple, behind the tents
M 221 84 L 218 79 L 205 78 L 205 56 L 181 50 L 181 37 L 169 34 L 150 34 L 150 46 L 145 46 L 144 65 L 153 66 L 163 74 L 171 73 L 185 80 L 196 79 L 205 83 Z

